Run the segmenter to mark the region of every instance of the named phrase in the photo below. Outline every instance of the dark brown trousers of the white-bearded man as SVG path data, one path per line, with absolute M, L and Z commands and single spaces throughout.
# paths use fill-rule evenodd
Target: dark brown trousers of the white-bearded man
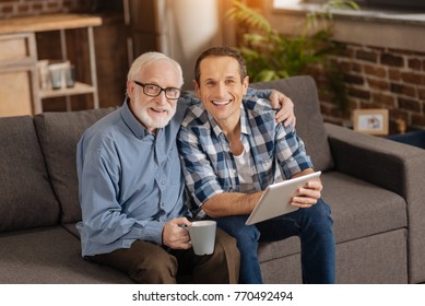
M 130 248 L 88 259 L 117 269 L 137 283 L 175 284 L 178 276 L 190 276 L 199 284 L 237 284 L 239 280 L 236 240 L 220 228 L 212 255 L 197 256 L 192 249 L 166 250 L 150 242 L 135 240 Z

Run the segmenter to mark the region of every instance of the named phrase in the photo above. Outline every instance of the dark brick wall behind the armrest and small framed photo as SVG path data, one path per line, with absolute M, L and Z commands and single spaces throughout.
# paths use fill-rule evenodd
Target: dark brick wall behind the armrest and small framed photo
M 403 119 L 410 129 L 425 128 L 425 54 L 364 45 L 346 45 L 333 58 L 344 70 L 350 109 L 388 108 L 390 125 Z M 335 105 L 321 97 L 327 121 L 344 125 Z M 351 111 L 350 111 L 351 113 Z

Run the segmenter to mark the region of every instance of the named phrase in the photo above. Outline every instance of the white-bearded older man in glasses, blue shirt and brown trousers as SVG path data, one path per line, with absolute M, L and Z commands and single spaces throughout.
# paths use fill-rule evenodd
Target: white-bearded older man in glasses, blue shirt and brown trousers
M 82 255 L 139 283 L 176 283 L 185 272 L 197 283 L 237 283 L 234 238 L 217 231 L 214 254 L 194 256 L 184 228 L 191 223 L 176 146 L 190 102 L 181 97 L 182 83 L 176 61 L 158 52 L 140 56 L 129 70 L 122 107 L 81 138 Z M 292 118 L 292 102 L 278 99 Z

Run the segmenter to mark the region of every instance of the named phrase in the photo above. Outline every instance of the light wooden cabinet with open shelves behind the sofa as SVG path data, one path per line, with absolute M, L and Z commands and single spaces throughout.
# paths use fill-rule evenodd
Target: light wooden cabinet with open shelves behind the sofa
M 93 107 L 98 108 L 96 58 L 93 27 L 102 24 L 99 16 L 52 14 L 0 20 L 0 117 L 34 115 L 43 111 L 42 101 L 58 96 L 93 95 Z M 86 28 L 90 82 L 73 87 L 42 90 L 37 72 L 38 32 L 58 31 L 62 60 L 67 60 L 66 31 Z M 70 107 L 67 107 L 68 109 Z

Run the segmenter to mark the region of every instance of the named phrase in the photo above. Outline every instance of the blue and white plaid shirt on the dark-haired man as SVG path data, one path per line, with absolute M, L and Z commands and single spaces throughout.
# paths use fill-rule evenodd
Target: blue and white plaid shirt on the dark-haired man
M 240 129 L 244 146 L 250 148 L 249 165 L 257 191 L 312 168 L 304 142 L 292 125 L 285 128 L 275 122 L 270 102 L 246 96 L 241 104 Z M 209 199 L 222 192 L 239 191 L 238 170 L 229 142 L 203 105 L 197 104 L 189 108 L 177 143 L 186 185 L 194 200 L 194 212 L 203 217 L 201 207 Z

